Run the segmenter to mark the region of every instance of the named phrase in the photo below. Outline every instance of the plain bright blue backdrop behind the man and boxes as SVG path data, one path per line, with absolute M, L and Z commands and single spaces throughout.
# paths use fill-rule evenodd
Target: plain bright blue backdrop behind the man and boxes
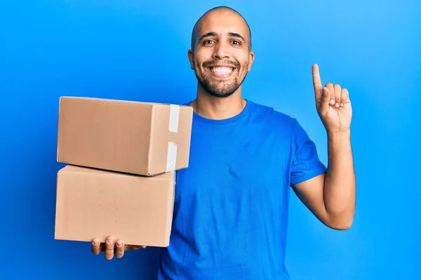
M 354 225 L 329 230 L 291 193 L 293 279 L 420 279 L 417 1 L 2 2 L 1 279 L 154 279 L 156 248 L 107 262 L 88 243 L 54 240 L 58 98 L 194 99 L 191 29 L 218 5 L 239 10 L 252 28 L 244 97 L 298 118 L 325 163 L 312 64 L 352 99 Z

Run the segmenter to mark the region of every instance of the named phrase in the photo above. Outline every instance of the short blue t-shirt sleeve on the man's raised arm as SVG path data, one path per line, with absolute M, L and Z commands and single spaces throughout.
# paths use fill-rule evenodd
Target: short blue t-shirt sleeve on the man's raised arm
M 293 160 L 290 172 L 291 185 L 307 181 L 326 172 L 326 166 L 319 160 L 314 142 L 300 123 L 295 120 L 293 130 Z

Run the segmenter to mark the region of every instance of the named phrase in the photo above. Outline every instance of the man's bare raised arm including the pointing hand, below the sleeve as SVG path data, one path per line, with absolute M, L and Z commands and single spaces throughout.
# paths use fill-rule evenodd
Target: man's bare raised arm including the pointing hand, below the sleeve
M 356 200 L 350 133 L 351 102 L 348 91 L 340 85 L 321 85 L 317 64 L 313 65 L 312 72 L 317 113 L 328 134 L 328 168 L 325 173 L 311 179 L 292 182 L 293 190 L 322 223 L 330 228 L 346 230 L 354 220 Z M 305 140 L 309 142 L 308 138 Z M 315 148 L 312 149 L 312 154 L 315 154 Z M 313 158 L 316 159 L 315 156 Z

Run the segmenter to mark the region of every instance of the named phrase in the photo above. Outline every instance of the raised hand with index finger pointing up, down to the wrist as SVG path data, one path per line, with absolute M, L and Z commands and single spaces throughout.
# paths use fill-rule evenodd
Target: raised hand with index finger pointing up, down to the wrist
M 313 64 L 313 86 L 316 110 L 327 132 L 347 132 L 351 126 L 352 106 L 349 92 L 340 85 L 321 85 L 319 65 Z

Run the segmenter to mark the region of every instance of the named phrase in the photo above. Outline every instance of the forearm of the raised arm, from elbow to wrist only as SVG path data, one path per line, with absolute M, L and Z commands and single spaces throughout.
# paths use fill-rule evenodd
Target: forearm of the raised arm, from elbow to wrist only
M 328 170 L 323 197 L 330 223 L 349 228 L 355 211 L 356 183 L 350 132 L 328 133 Z

